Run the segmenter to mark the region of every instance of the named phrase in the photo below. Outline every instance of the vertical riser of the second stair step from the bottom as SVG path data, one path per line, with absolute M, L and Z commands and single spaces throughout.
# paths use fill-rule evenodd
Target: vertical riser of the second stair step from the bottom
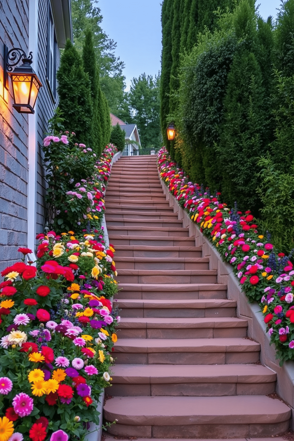
M 134 384 L 117 383 L 113 377 L 112 387 L 105 392 L 112 396 L 233 396 L 267 395 L 275 392 L 272 383 L 174 383 Z M 131 382 L 131 378 L 129 379 Z

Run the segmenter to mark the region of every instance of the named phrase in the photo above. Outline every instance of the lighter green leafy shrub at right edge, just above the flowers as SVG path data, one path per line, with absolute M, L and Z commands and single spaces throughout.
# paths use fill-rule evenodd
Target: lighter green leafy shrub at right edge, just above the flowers
M 294 248 L 294 164 L 288 163 L 288 172 L 281 172 L 267 155 L 258 165 L 261 227 L 271 233 L 272 243 L 288 254 Z

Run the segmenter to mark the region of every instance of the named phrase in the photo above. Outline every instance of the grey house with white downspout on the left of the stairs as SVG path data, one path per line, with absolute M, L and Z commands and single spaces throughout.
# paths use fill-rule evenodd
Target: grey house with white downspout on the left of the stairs
M 34 250 L 36 232 L 44 231 L 42 141 L 58 105 L 56 70 L 67 38 L 72 41 L 70 0 L 1 1 L 0 270 L 20 258 L 18 247 Z M 43 85 L 33 115 L 12 107 L 10 79 L 8 90 L 4 87 L 4 45 L 32 52 Z

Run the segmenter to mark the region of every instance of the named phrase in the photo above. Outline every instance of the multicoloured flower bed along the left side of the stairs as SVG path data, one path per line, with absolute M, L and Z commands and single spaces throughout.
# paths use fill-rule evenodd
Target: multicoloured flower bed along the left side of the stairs
M 96 183 L 107 181 L 113 153 L 97 163 Z M 94 203 L 104 204 L 101 190 Z M 19 248 L 20 261 L 1 273 L 0 441 L 83 440 L 111 380 L 115 250 L 99 228 L 37 239 L 36 262 Z

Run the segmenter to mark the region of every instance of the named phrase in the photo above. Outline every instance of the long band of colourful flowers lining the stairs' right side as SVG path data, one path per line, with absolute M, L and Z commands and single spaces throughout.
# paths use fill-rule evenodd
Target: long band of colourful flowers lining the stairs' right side
M 250 302 L 261 303 L 271 343 L 280 364 L 294 360 L 294 269 L 291 256 L 276 250 L 259 235 L 250 211 L 242 214 L 220 203 L 216 195 L 190 182 L 171 161 L 165 147 L 158 153 L 161 179 L 186 210 L 191 221 L 208 237 L 223 260 L 229 262 Z

